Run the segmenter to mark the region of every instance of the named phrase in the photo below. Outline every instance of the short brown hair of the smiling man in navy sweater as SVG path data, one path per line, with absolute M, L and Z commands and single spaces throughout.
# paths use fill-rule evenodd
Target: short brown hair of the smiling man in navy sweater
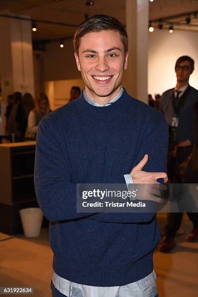
M 103 30 L 113 30 L 118 31 L 121 35 L 121 40 L 124 45 L 124 53 L 128 50 L 128 36 L 124 26 L 121 22 L 111 16 L 105 15 L 95 15 L 91 16 L 84 22 L 82 22 L 76 29 L 73 38 L 74 50 L 76 54 L 78 54 L 78 49 L 80 46 L 80 38 L 82 38 L 85 34 L 91 32 L 100 32 Z

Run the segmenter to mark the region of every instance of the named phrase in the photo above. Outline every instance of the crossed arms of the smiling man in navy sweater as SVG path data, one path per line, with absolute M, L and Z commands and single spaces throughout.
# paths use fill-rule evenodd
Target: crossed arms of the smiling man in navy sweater
M 70 181 L 71 168 L 67 161 L 69 157 L 66 151 L 62 154 L 61 145 L 55 135 L 48 132 L 47 125 L 45 119 L 39 125 L 34 172 L 37 200 L 47 219 L 61 221 L 89 216 L 98 221 L 123 223 L 146 222 L 152 219 L 154 213 L 76 213 L 76 184 Z M 162 133 L 161 141 L 158 139 L 159 132 Z M 131 177 L 134 183 L 157 184 L 160 178 L 166 182 L 167 126 L 164 122 L 159 124 L 147 136 L 148 138 L 144 137 L 142 141 L 137 154 L 138 163 L 132 169 Z M 142 160 L 146 153 L 147 156 Z M 143 167 L 145 171 L 142 170 Z

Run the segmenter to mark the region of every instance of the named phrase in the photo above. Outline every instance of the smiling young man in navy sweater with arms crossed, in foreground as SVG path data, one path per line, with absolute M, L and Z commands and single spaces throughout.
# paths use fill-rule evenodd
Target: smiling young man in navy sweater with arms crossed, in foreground
M 47 115 L 37 133 L 34 180 L 52 221 L 52 295 L 155 297 L 155 213 L 77 213 L 76 184 L 166 182 L 168 126 L 121 85 L 128 49 L 117 19 L 83 22 L 74 49 L 85 88 Z

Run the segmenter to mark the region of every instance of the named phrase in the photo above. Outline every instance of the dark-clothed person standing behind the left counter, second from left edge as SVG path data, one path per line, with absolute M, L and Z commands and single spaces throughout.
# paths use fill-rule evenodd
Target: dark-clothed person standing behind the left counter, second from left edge
M 15 141 L 22 141 L 22 122 L 24 118 L 24 111 L 22 107 L 22 94 L 20 92 L 15 92 L 13 94 L 13 107 L 11 109 L 8 122 L 6 134 L 15 134 Z

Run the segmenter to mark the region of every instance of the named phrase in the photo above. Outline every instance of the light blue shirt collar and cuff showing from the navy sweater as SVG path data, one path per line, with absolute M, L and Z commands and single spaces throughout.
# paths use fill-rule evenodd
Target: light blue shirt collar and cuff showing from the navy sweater
M 91 105 L 94 105 L 94 106 L 97 106 L 97 107 L 105 107 L 105 106 L 109 106 L 109 105 L 115 103 L 115 102 L 122 96 L 122 93 L 123 93 L 123 88 L 122 88 L 122 86 L 121 86 L 121 90 L 120 90 L 119 94 L 118 94 L 114 99 L 112 99 L 111 101 L 109 101 L 109 102 L 108 102 L 107 104 L 105 104 L 105 105 L 101 105 L 101 104 L 99 104 L 99 103 L 97 103 L 97 102 L 91 100 L 91 99 L 86 95 L 86 93 L 85 93 L 85 88 L 83 89 L 83 96 L 84 96 L 85 100 L 86 100 L 88 103 L 90 103 Z M 133 192 L 133 191 L 134 191 L 134 185 L 133 185 L 134 182 L 133 182 L 133 179 L 132 179 L 131 175 L 130 175 L 130 174 L 124 174 L 124 179 L 125 179 L 125 181 L 126 181 L 126 186 L 127 186 L 128 191 Z M 135 198 L 131 197 L 130 200 L 135 200 Z

